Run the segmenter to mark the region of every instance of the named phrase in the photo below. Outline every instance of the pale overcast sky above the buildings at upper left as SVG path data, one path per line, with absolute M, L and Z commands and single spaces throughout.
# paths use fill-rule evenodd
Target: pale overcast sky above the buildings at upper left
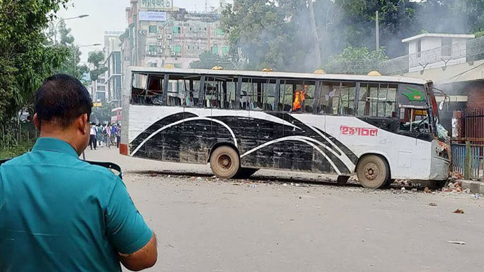
M 232 2 L 232 1 L 226 1 Z M 75 43 L 79 46 L 104 43 L 104 31 L 124 30 L 127 28 L 126 11 L 129 0 L 72 0 L 73 7 L 59 11 L 59 17 L 75 17 L 89 14 L 82 19 L 67 20 Z M 218 7 L 219 0 L 207 0 L 208 6 Z M 174 0 L 173 5 L 187 10 L 204 10 L 205 0 Z M 103 44 L 104 46 L 104 44 Z M 81 48 L 81 61 L 87 61 L 89 51 L 101 50 L 103 46 Z

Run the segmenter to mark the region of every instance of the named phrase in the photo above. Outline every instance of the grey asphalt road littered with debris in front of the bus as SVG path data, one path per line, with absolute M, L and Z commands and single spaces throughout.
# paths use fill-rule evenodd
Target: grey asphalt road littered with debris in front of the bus
M 222 181 L 208 166 L 106 148 L 86 157 L 124 168 L 158 235 L 148 271 L 484 271 L 484 200 L 473 195 L 373 191 L 275 171 Z

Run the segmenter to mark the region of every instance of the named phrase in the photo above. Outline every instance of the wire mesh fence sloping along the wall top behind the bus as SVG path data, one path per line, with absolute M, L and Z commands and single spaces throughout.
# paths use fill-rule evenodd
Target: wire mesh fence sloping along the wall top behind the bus
M 338 61 L 331 64 L 328 72 L 364 75 L 371 70 L 378 70 L 382 75 L 402 75 L 414 70 L 425 70 L 438 64 L 446 68 L 455 61 L 472 62 L 484 59 L 484 37 L 469 39 L 465 43 L 454 43 L 431 50 L 425 50 L 386 61 L 368 59 L 362 61 Z M 454 61 L 454 62 L 453 62 Z

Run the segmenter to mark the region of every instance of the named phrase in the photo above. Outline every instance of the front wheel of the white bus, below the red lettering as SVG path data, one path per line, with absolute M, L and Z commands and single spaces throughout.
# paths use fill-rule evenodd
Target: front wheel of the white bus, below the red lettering
M 390 178 L 390 167 L 377 155 L 366 155 L 356 167 L 358 182 L 365 188 L 381 188 Z

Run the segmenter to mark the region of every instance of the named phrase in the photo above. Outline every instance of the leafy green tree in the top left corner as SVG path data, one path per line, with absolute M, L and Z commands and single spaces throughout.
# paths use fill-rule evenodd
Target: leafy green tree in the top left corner
M 44 29 L 68 0 L 0 1 L 0 122 L 32 101 L 42 81 L 68 56 Z

